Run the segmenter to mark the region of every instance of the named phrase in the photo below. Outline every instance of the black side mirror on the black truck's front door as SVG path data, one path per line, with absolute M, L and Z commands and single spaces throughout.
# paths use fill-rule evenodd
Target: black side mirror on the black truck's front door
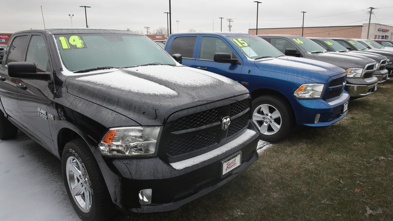
M 8 63 L 8 75 L 12 78 L 50 80 L 50 75 L 37 73 L 35 64 L 32 62 L 10 62 Z

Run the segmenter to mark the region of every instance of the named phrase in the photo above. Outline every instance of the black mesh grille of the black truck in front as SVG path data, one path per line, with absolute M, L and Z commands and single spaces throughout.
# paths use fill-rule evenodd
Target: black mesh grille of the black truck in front
M 203 150 L 210 151 L 220 142 L 230 140 L 248 127 L 250 102 L 247 98 L 168 120 L 162 135 L 165 137 L 166 154 L 175 158 Z M 221 121 L 226 116 L 231 118 L 231 123 L 228 129 L 223 130 Z

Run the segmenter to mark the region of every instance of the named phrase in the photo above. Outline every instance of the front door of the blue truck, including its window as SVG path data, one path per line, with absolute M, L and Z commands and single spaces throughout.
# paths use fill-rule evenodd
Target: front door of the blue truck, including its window
M 242 63 L 231 64 L 213 61 L 214 53 L 216 52 L 229 53 L 232 59 L 238 58 L 238 54 L 236 54 L 234 50 L 222 39 L 217 37 L 202 37 L 200 48 L 197 52 L 198 51 L 199 55 L 197 55 L 197 58 L 199 59 L 196 59 L 194 65 L 190 67 L 217 73 L 239 83 L 248 82 L 247 80 L 242 79 Z

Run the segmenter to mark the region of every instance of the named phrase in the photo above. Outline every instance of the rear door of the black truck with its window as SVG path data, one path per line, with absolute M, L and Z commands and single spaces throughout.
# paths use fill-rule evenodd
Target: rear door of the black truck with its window
M 17 36 L 12 40 L 11 45 L 8 47 L 8 56 L 5 58 L 5 64 L 0 70 L 0 98 L 6 112 L 5 114 L 20 124 L 22 124 L 22 118 L 17 95 L 17 85 L 20 83 L 20 80 L 8 76 L 7 64 L 23 61 L 27 42 L 27 35 Z

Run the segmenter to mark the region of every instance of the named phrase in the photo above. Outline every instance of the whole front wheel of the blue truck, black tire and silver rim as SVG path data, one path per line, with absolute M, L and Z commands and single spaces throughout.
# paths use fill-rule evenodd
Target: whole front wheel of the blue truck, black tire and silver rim
M 260 139 L 277 142 L 285 138 L 293 127 L 292 108 L 282 98 L 262 95 L 252 101 L 252 121 L 260 132 Z

